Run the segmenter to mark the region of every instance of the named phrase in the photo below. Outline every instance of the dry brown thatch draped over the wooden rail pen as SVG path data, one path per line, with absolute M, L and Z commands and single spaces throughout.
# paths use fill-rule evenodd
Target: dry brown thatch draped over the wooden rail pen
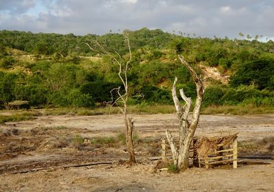
M 230 145 L 236 139 L 238 132 L 228 136 L 201 136 L 195 141 L 195 151 L 197 157 L 203 158 L 208 156 L 210 150 L 218 149 L 220 146 Z

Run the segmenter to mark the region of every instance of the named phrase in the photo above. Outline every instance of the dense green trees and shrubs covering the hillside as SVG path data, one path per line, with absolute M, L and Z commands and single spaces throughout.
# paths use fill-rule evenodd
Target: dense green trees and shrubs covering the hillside
M 204 106 L 274 107 L 274 43 L 228 38 L 190 38 L 140 29 L 130 32 L 130 104 L 172 104 L 171 84 L 195 99 L 195 85 L 177 60 L 182 53 L 201 73 L 215 67 L 229 84 L 209 80 Z M 118 67 L 86 43 L 105 43 L 127 57 L 123 34 L 75 36 L 0 31 L 0 105 L 28 101 L 31 107 L 88 107 L 112 101 L 110 91 L 121 85 Z M 115 97 L 115 95 L 114 95 Z

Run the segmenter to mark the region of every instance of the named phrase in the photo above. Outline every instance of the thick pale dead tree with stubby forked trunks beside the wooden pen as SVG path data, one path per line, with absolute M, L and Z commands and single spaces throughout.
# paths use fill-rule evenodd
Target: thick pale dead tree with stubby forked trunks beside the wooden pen
M 175 77 L 173 88 L 172 88 L 172 97 L 175 104 L 177 117 L 179 120 L 179 148 L 177 148 L 173 136 L 169 130 L 166 130 L 166 138 L 169 141 L 169 145 L 171 146 L 171 152 L 173 155 L 173 164 L 178 167 L 180 170 L 188 169 L 188 157 L 189 157 L 189 149 L 190 144 L 192 142 L 193 136 L 195 134 L 195 130 L 197 128 L 201 110 L 201 103 L 203 99 L 203 84 L 201 79 L 198 77 L 195 70 L 184 60 L 183 56 L 178 56 L 179 60 L 186 66 L 188 71 L 191 74 L 193 81 L 196 84 L 197 88 L 197 99 L 195 102 L 195 107 L 192 112 L 192 119 L 188 121 L 188 115 L 190 112 L 191 106 L 191 98 L 186 97 L 184 95 L 184 89 L 181 88 L 179 93 L 184 99 L 185 103 L 182 107 L 176 93 L 176 82 L 177 77 Z

